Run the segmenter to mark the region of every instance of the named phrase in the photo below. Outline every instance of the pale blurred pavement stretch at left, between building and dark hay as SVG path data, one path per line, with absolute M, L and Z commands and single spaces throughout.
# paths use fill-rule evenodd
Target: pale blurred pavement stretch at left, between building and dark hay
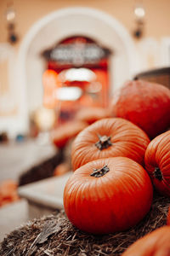
M 55 152 L 53 145 L 41 144 L 38 140 L 0 144 L 0 182 L 5 179 L 17 180 L 20 173 L 47 160 Z

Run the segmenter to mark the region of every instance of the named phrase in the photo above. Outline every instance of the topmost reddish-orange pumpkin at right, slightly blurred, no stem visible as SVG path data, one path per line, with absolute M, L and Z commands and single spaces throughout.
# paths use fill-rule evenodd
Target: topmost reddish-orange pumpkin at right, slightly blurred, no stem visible
M 130 120 L 150 138 L 170 126 L 169 109 L 170 90 L 164 85 L 142 80 L 128 81 L 111 100 L 114 116 Z

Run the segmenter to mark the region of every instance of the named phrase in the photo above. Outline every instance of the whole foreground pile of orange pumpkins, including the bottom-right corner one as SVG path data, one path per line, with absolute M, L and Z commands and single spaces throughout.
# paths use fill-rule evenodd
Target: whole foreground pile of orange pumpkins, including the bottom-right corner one
M 170 196 L 170 90 L 129 81 L 113 96 L 110 110 L 112 117 L 88 125 L 72 143 L 74 172 L 64 191 L 71 223 L 97 235 L 138 224 L 155 189 Z M 170 226 L 136 241 L 123 256 L 145 251 L 170 255 Z

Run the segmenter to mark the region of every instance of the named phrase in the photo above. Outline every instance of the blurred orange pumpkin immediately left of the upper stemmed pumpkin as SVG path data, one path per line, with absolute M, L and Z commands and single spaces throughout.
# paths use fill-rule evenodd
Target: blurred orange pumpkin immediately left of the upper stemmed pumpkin
M 64 148 L 66 143 L 76 137 L 86 126 L 88 126 L 87 123 L 78 120 L 59 125 L 54 131 L 51 131 L 51 141 L 56 147 Z

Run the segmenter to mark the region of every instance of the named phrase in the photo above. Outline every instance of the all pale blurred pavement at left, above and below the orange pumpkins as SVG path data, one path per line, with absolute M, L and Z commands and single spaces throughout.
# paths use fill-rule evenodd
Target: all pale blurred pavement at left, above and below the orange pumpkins
M 20 173 L 56 153 L 50 143 L 29 140 L 24 143 L 0 144 L 0 183 L 6 179 L 17 181 Z M 5 234 L 28 220 L 27 202 L 21 200 L 0 208 L 0 241 Z

